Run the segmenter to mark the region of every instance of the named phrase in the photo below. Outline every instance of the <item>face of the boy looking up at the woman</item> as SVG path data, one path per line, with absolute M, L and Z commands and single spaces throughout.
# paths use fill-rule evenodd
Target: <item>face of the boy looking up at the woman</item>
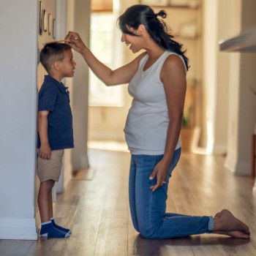
M 64 59 L 59 61 L 59 72 L 63 78 L 72 78 L 75 74 L 75 61 L 71 50 L 64 51 Z

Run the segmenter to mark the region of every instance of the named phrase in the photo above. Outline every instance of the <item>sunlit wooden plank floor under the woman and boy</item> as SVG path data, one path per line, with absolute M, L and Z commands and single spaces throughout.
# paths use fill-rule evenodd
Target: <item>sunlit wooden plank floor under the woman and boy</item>
M 70 181 L 64 194 L 56 199 L 56 220 L 70 227 L 72 236 L 38 241 L 0 240 L 1 256 L 256 255 L 253 181 L 233 176 L 224 167 L 224 158 L 182 154 L 170 181 L 167 210 L 214 215 L 228 208 L 249 225 L 249 240 L 206 234 L 143 239 L 133 229 L 129 216 L 129 154 L 90 149 L 89 160 L 91 170 Z

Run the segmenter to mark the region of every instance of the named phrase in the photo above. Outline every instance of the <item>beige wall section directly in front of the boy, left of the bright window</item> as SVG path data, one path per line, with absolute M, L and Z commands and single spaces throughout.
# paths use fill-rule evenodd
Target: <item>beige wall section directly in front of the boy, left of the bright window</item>
M 89 45 L 90 13 L 91 1 L 67 1 L 67 32 L 78 32 L 87 45 Z M 73 55 L 77 64 L 75 76 L 72 80 L 67 80 L 67 86 L 70 89 L 75 148 L 66 157 L 71 161 L 72 170 L 80 170 L 89 167 L 87 157 L 89 69 L 79 53 L 73 50 Z

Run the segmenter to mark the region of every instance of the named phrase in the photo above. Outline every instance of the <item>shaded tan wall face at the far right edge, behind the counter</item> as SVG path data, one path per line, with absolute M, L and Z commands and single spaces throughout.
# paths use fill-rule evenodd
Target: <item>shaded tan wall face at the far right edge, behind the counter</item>
M 256 27 L 256 1 L 244 0 L 241 6 L 241 31 L 248 31 Z M 256 124 L 256 53 L 241 53 L 240 62 L 240 94 L 238 110 L 238 163 L 236 173 L 250 173 L 252 134 Z

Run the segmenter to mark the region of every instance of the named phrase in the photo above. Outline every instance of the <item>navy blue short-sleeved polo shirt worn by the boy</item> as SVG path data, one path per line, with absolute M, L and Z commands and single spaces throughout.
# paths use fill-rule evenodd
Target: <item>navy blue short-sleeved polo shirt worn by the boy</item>
M 69 91 L 63 83 L 59 83 L 50 75 L 39 90 L 38 111 L 47 110 L 48 140 L 51 150 L 74 148 L 72 112 L 69 105 Z M 39 134 L 37 148 L 40 147 Z

